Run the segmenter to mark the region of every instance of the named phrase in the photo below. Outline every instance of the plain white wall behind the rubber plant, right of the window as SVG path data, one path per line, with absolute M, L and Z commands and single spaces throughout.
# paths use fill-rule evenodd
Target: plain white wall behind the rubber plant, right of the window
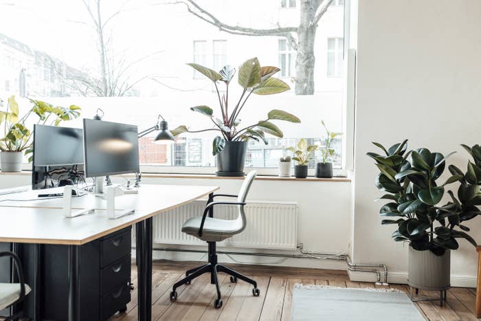
M 382 262 L 405 278 L 407 246 L 380 225 L 378 170 L 371 142 L 410 140 L 410 148 L 457 151 L 449 164 L 465 170 L 459 144 L 481 142 L 481 1 L 359 0 L 355 146 L 356 262 Z M 454 186 L 457 190 L 457 186 Z M 481 243 L 481 219 L 467 224 Z M 453 283 L 474 285 L 476 250 L 460 241 L 452 255 Z M 465 284 L 463 283 L 463 284 Z

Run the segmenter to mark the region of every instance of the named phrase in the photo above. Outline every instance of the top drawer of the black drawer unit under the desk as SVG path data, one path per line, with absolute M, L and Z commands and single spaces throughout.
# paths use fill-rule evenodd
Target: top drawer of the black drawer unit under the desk
M 131 229 L 100 241 L 100 267 L 107 267 L 131 253 Z

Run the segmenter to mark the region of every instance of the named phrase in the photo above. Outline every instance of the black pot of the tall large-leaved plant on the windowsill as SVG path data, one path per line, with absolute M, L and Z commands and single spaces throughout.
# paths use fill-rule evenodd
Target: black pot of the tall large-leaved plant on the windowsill
M 217 154 L 216 176 L 245 176 L 245 153 L 247 142 L 225 142 L 224 149 Z

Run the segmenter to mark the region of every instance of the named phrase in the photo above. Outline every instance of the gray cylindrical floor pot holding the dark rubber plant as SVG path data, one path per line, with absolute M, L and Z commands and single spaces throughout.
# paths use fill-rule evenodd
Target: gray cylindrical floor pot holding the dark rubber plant
M 443 291 L 451 287 L 451 252 L 442 256 L 431 251 L 416 251 L 411 246 L 408 254 L 407 284 L 417 289 Z

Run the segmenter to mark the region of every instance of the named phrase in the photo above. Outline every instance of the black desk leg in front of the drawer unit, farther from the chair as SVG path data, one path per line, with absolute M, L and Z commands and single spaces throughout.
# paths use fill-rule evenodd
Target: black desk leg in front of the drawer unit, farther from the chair
M 77 245 L 69 246 L 69 321 L 80 321 L 80 296 L 78 291 L 78 278 L 80 275 L 78 262 L 79 248 Z

